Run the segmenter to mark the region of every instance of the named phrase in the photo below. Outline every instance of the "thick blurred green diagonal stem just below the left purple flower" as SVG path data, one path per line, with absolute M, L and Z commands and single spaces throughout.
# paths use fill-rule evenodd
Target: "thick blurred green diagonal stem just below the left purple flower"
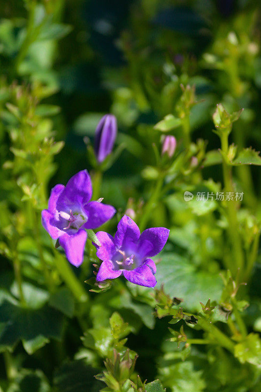
M 68 261 L 65 260 L 65 258 L 58 251 L 55 253 L 55 263 L 60 276 L 67 284 L 68 288 L 71 290 L 77 301 L 87 302 L 88 295 L 86 291 L 72 272 Z

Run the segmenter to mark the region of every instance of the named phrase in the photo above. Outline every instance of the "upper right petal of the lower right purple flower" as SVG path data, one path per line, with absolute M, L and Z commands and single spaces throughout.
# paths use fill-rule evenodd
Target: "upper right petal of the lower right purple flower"
M 167 242 L 169 230 L 165 227 L 152 227 L 141 234 L 137 251 L 141 257 L 156 256 Z

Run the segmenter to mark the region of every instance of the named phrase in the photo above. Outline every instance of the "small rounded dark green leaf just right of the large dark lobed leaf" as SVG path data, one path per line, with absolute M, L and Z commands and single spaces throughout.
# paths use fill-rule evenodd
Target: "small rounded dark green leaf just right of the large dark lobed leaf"
M 74 299 L 71 291 L 67 287 L 62 287 L 52 294 L 49 299 L 49 305 L 62 312 L 68 317 L 74 313 Z

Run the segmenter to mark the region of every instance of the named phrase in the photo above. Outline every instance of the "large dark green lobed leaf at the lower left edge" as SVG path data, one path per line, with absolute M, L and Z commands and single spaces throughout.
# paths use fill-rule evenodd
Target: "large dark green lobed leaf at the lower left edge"
M 0 305 L 0 351 L 12 350 L 22 340 L 24 349 L 32 354 L 49 338 L 61 339 L 63 320 L 60 312 L 48 306 L 32 310 L 4 301 Z

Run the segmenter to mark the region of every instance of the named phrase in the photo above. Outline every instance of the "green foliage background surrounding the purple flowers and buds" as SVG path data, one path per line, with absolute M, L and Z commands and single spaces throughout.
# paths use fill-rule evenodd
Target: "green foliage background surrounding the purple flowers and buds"
M 0 17 L 0 391 L 260 391 L 258 2 L 2 0 Z M 105 231 L 129 208 L 170 228 L 156 291 L 97 287 L 91 241 L 79 269 L 50 241 L 50 189 L 82 169 L 117 208 Z

